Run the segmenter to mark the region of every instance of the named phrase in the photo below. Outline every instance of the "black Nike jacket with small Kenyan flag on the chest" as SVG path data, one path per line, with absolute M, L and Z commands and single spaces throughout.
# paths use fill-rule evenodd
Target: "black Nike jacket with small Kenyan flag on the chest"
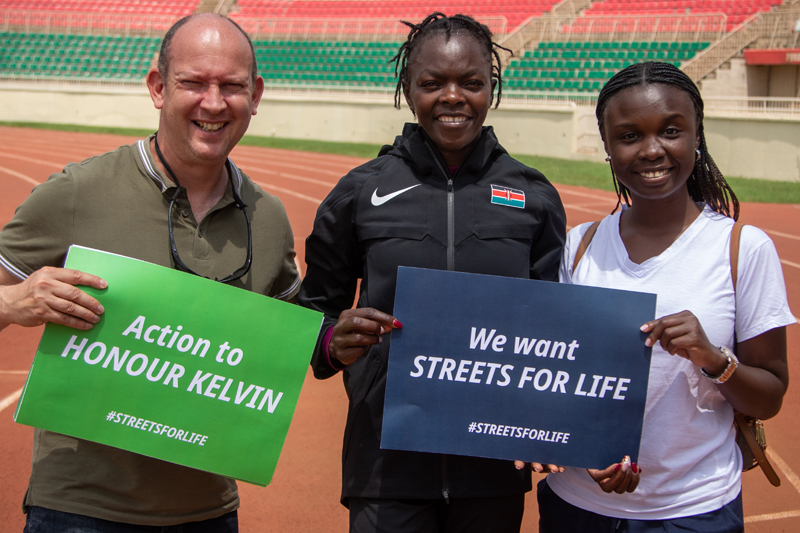
M 492 191 L 524 192 L 524 208 Z M 513 191 L 512 191 L 513 192 Z M 519 197 L 518 195 L 516 196 Z M 451 175 L 422 128 L 406 124 L 392 146 L 343 177 L 317 210 L 306 240 L 299 303 L 325 320 L 311 366 L 337 373 L 322 337 L 353 305 L 392 314 L 398 266 L 557 281 L 566 216 L 555 188 L 516 161 L 491 127 Z M 400 321 L 403 317 L 397 317 Z M 381 450 L 388 336 L 344 370 L 350 409 L 342 451 L 342 502 L 362 498 L 477 498 L 531 489 L 511 461 Z

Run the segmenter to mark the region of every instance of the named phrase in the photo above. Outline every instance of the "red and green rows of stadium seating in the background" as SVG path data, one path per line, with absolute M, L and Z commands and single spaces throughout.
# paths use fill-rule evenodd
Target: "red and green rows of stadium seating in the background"
M 420 20 L 432 10 L 461 11 L 479 20 L 507 19 L 503 27 L 517 27 L 516 33 L 558 20 L 555 34 L 528 37 L 524 45 L 515 47 L 517 57 L 504 69 L 506 88 L 594 93 L 616 71 L 634 62 L 685 64 L 719 39 L 726 24 L 730 29 L 736 21 L 780 3 L 601 0 L 581 15 L 543 18 L 542 13 L 552 11 L 556 0 L 438 0 L 433 4 L 425 0 L 238 0 L 230 15 L 253 36 L 261 74 L 270 85 L 379 89 L 391 89 L 396 83 L 389 60 L 407 33 L 400 19 Z M 139 81 L 155 58 L 163 30 L 152 31 L 155 26 L 148 23 L 143 31 L 144 26 L 134 23 L 157 20 L 168 27 L 200 5 L 200 0 L 0 0 L 8 30 L 0 32 L 0 76 Z M 20 14 L 25 14 L 24 25 L 17 20 Z M 43 31 L 42 21 L 49 31 Z M 125 22 L 124 29 L 120 21 Z M 308 21 L 316 22 L 309 25 Z M 370 21 L 389 26 L 379 30 L 382 26 L 370 26 Z M 288 26 L 281 26 L 277 34 L 261 26 L 275 28 L 282 22 Z M 27 31 L 11 31 L 21 26 Z M 352 28 L 358 29 L 351 33 Z M 281 34 L 284 30 L 286 35 Z M 501 41 L 503 37 L 498 35 Z

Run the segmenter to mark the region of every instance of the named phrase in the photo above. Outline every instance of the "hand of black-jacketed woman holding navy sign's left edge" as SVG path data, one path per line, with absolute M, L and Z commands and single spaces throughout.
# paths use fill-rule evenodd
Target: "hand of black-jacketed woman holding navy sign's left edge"
M 353 364 L 370 346 L 383 341 L 381 335 L 402 328 L 396 318 L 371 307 L 347 309 L 333 326 L 328 354 L 344 365 Z

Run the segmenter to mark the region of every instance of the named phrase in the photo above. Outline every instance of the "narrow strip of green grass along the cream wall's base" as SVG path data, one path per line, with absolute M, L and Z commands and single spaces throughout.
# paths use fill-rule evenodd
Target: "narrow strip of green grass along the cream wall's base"
M 33 122 L 0 122 L 3 126 L 18 126 L 56 131 L 78 131 L 88 133 L 112 133 L 119 135 L 147 136 L 151 130 L 133 128 L 111 128 L 100 126 L 78 126 L 72 124 L 47 124 Z M 377 155 L 381 145 L 361 143 L 341 143 L 328 141 L 311 141 L 301 139 L 282 139 L 275 137 L 258 137 L 245 135 L 241 144 L 247 146 L 261 146 L 266 148 L 281 148 L 284 150 L 303 150 L 306 152 L 319 152 L 324 154 L 348 155 L 355 157 L 372 158 Z M 605 163 L 591 161 L 573 161 L 570 159 L 556 159 L 553 157 L 540 157 L 532 155 L 512 154 L 516 159 L 528 166 L 536 168 L 554 183 L 577 185 L 613 191 L 611 173 Z M 736 196 L 742 202 L 761 202 L 775 204 L 800 203 L 800 182 L 770 181 L 749 178 L 726 176 Z

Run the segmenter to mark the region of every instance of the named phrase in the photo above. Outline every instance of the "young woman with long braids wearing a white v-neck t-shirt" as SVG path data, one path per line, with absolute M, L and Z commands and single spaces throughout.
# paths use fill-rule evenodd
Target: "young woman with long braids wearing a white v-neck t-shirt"
M 540 532 L 743 531 L 733 410 L 775 416 L 789 382 L 795 320 L 775 247 L 743 228 L 734 290 L 739 204 L 708 154 L 700 93 L 679 69 L 621 70 L 600 92 L 597 120 L 624 205 L 577 265 L 591 224 L 570 231 L 560 278 L 658 295 L 658 318 L 642 326 L 653 346 L 642 441 L 638 464 L 542 480 Z

